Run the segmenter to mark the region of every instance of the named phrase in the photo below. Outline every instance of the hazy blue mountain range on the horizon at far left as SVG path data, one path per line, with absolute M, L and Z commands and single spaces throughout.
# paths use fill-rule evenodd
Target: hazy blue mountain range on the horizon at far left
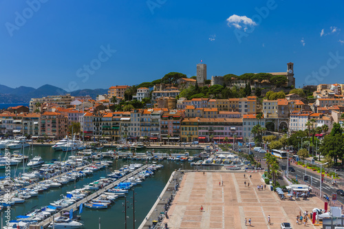
M 0 103 L 20 103 L 30 102 L 31 98 L 42 98 L 44 96 L 58 96 L 63 94 L 71 94 L 71 96 L 91 96 L 93 99 L 98 95 L 107 94 L 107 89 L 82 89 L 67 92 L 59 87 L 52 85 L 43 85 L 37 89 L 33 87 L 7 87 L 0 85 Z

